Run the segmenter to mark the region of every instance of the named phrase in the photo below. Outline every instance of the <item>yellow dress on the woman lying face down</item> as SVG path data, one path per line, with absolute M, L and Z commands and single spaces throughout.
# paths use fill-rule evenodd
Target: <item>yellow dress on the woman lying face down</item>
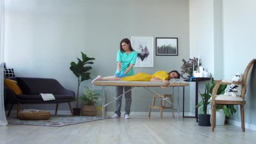
M 122 77 L 122 81 L 149 81 L 152 77 L 160 78 L 161 80 L 169 80 L 169 75 L 165 71 L 155 72 L 154 75 L 149 75 L 145 72 L 140 72 L 136 75 L 131 75 L 128 77 Z

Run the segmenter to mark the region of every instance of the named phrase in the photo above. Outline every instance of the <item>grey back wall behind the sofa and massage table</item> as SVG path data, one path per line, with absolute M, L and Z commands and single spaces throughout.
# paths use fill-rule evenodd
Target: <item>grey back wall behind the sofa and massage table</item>
M 120 40 L 131 36 L 179 38 L 179 56 L 154 54 L 154 68 L 134 68 L 135 73 L 180 71 L 181 60 L 189 58 L 188 0 L 10 0 L 5 4 L 5 62 L 18 77 L 55 78 L 76 93 L 77 79 L 69 67 L 71 61 L 81 57 L 80 51 L 96 58 L 90 71 L 92 78 L 113 75 Z M 81 83 L 80 94 L 85 85 L 92 88 L 91 80 Z M 185 92 L 189 93 L 188 88 Z M 109 87 L 107 96 L 107 101 L 112 100 L 115 89 Z M 152 93 L 136 88 L 132 96 L 131 111 L 148 112 Z M 59 109 L 69 108 L 62 104 Z M 115 111 L 115 103 L 107 111 Z

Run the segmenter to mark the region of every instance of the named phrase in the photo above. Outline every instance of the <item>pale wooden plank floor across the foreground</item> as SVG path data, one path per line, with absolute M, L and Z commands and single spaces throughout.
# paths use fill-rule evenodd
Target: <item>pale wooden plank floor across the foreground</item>
M 195 118 L 131 116 L 64 127 L 0 126 L 0 144 L 253 144 L 256 131 L 198 126 Z

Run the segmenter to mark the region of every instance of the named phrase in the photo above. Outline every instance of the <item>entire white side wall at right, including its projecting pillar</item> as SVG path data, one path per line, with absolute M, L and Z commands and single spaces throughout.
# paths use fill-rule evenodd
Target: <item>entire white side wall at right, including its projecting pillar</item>
M 202 64 L 203 66 L 210 64 L 206 67 L 210 66 L 209 69 L 216 80 L 231 79 L 236 72 L 244 72 L 247 64 L 256 58 L 255 5 L 255 0 L 189 1 L 190 57 L 204 51 Z M 204 40 L 203 43 L 200 43 L 201 39 Z M 245 123 L 249 124 L 247 128 L 250 128 L 250 124 L 256 124 L 256 92 L 253 87 L 255 74 L 254 68 L 252 75 L 248 76 L 245 96 Z M 201 86 L 203 87 L 203 84 Z M 195 93 L 194 88 L 190 87 L 191 112 L 194 112 L 192 104 L 195 103 L 193 93 Z M 240 121 L 240 107 L 235 107 L 237 113 L 229 119 Z

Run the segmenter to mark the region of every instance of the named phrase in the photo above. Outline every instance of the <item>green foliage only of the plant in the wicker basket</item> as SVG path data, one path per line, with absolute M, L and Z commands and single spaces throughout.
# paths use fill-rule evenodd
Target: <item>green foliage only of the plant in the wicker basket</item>
M 99 93 L 94 93 L 93 90 L 89 89 L 87 86 L 85 86 L 84 94 L 80 97 L 80 99 L 83 101 L 83 104 L 92 106 L 97 104 L 98 96 L 100 96 Z

